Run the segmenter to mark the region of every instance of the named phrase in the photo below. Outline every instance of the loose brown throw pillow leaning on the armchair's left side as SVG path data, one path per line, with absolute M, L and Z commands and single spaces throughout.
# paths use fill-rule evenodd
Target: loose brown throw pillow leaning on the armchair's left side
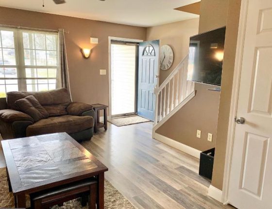
M 20 111 L 30 115 L 34 122 L 49 117 L 46 109 L 43 108 L 43 106 L 32 95 L 15 101 L 15 104 L 20 109 Z

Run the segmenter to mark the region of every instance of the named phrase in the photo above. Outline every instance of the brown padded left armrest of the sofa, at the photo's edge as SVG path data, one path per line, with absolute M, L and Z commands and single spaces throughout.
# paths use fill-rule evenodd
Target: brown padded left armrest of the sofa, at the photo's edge
M 30 121 L 34 122 L 33 118 L 29 115 L 12 109 L 0 110 L 0 120 L 3 122 L 16 122 L 16 121 Z

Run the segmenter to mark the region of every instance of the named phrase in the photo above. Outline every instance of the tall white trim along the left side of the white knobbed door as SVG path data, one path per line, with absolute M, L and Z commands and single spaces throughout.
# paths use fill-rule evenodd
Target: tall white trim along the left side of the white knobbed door
M 236 125 L 234 119 L 236 117 L 237 106 L 238 106 L 240 74 L 241 74 L 241 66 L 242 66 L 242 58 L 243 58 L 248 2 L 249 0 L 241 1 L 241 10 L 240 10 L 239 27 L 238 27 L 238 40 L 237 40 L 235 67 L 234 67 L 234 76 L 233 76 L 233 85 L 232 85 L 232 96 L 231 96 L 231 104 L 230 104 L 230 117 L 229 117 L 229 125 L 228 125 L 224 177 L 223 177 L 222 202 L 224 204 L 228 204 L 230 170 L 231 170 L 233 142 L 234 142 L 234 133 L 235 133 L 235 125 Z

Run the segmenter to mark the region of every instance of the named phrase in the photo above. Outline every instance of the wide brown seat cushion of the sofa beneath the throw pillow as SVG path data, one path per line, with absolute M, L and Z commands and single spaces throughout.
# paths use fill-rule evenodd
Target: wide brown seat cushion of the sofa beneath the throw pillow
M 68 134 L 83 131 L 93 127 L 93 118 L 90 116 L 63 115 L 42 119 L 26 129 L 26 136 L 66 132 Z

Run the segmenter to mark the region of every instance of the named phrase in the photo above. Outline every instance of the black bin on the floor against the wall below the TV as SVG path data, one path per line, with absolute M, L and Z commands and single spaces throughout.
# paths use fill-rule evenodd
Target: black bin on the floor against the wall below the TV
M 214 152 L 212 148 L 200 154 L 199 174 L 209 179 L 212 179 Z

